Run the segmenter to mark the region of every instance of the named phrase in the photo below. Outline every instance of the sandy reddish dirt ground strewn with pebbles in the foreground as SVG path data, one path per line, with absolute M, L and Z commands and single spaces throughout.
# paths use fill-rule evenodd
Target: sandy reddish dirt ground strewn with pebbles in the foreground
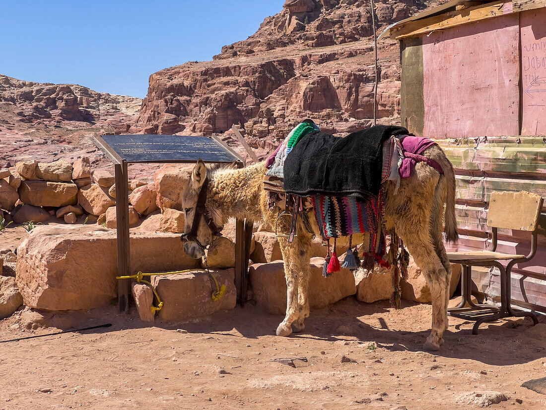
M 406 301 L 395 311 L 349 297 L 312 311 L 304 332 L 287 338 L 274 335 L 282 318 L 252 303 L 151 326 L 134 310 L 24 309 L 0 321 L 3 341 L 112 324 L 0 343 L 0 409 L 450 410 L 478 408 L 467 396 L 487 391 L 507 398 L 491 409 L 546 408 L 546 395 L 521 387 L 546 376 L 544 333 L 533 337 L 528 319 L 473 336 L 471 323 L 450 318 L 446 343 L 430 354 L 421 347 L 431 307 Z

